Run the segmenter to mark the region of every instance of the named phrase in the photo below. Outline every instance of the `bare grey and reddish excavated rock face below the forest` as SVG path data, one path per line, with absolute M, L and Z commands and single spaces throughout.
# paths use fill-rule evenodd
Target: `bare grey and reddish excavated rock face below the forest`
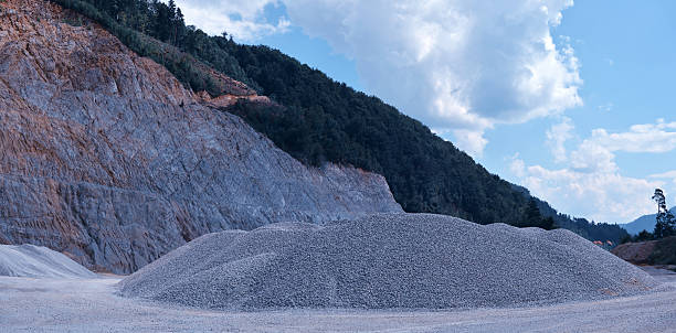
M 211 232 L 401 212 L 382 176 L 306 168 L 62 18 L 46 1 L 0 2 L 0 243 L 120 273 Z

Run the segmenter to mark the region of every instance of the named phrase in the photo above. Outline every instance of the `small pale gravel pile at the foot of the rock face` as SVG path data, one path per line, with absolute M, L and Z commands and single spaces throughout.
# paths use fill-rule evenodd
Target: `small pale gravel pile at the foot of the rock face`
M 34 245 L 0 245 L 0 277 L 96 278 L 71 258 Z

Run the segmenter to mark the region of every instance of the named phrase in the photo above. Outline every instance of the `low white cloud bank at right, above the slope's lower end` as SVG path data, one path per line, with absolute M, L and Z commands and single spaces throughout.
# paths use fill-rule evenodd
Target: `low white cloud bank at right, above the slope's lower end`
M 655 123 L 634 125 L 624 132 L 594 129 L 569 153 L 566 168 L 550 170 L 537 164 L 526 165 L 515 155 L 510 171 L 519 183 L 562 212 L 575 212 L 603 222 L 631 221 L 651 213 L 651 194 L 655 187 L 667 185 L 664 180 L 676 184 L 676 171 L 647 179 L 624 176 L 615 162 L 616 152 L 669 152 L 676 149 L 675 136 L 676 122 L 662 119 Z

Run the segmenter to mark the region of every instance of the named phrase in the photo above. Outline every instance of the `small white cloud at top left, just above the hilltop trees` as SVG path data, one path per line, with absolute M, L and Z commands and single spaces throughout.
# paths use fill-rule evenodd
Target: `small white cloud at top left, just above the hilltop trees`
M 265 9 L 277 0 L 176 0 L 188 24 L 218 35 L 228 32 L 237 41 L 253 42 L 265 35 L 287 31 L 291 22 L 281 17 L 270 22 Z

